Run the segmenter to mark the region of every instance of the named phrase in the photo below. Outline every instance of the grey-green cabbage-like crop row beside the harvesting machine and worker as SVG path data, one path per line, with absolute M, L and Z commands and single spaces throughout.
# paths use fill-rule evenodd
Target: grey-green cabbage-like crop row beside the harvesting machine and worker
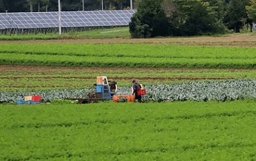
M 143 96 L 143 102 L 256 99 L 255 79 L 146 85 L 145 88 L 147 95 Z M 95 90 L 91 88 L 83 90 L 1 92 L 0 102 L 15 102 L 26 95 L 41 95 L 44 102 L 51 102 L 55 99 L 86 98 L 86 93 L 93 91 Z M 118 88 L 118 93 L 130 92 L 130 86 Z

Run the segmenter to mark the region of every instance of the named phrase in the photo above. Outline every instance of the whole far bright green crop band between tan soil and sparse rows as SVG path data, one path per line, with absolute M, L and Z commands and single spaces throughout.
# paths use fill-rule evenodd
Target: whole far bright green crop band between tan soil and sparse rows
M 154 44 L 0 44 L 1 65 L 255 68 L 252 47 Z

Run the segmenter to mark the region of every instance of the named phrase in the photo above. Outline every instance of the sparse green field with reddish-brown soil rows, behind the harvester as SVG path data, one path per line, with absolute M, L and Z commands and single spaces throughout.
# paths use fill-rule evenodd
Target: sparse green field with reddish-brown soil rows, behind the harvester
M 0 67 L 0 91 L 40 91 L 91 88 L 96 77 L 105 75 L 118 86 L 137 79 L 143 85 L 190 81 L 255 79 L 256 69 L 162 69 L 162 68 L 70 68 Z

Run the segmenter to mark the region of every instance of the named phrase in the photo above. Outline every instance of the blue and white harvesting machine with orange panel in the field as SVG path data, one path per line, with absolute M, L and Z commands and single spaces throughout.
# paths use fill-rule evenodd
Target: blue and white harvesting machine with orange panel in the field
M 93 103 L 105 100 L 113 100 L 117 92 L 117 83 L 115 81 L 108 82 L 106 76 L 97 76 L 95 92 L 87 93 L 87 98 L 72 98 L 67 100 L 77 100 L 77 103 Z

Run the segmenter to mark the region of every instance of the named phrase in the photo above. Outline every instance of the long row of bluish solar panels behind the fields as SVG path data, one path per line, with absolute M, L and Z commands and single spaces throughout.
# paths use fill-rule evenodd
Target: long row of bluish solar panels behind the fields
M 61 12 L 61 27 L 127 26 L 135 10 Z M 56 28 L 58 12 L 0 13 L 0 29 Z

